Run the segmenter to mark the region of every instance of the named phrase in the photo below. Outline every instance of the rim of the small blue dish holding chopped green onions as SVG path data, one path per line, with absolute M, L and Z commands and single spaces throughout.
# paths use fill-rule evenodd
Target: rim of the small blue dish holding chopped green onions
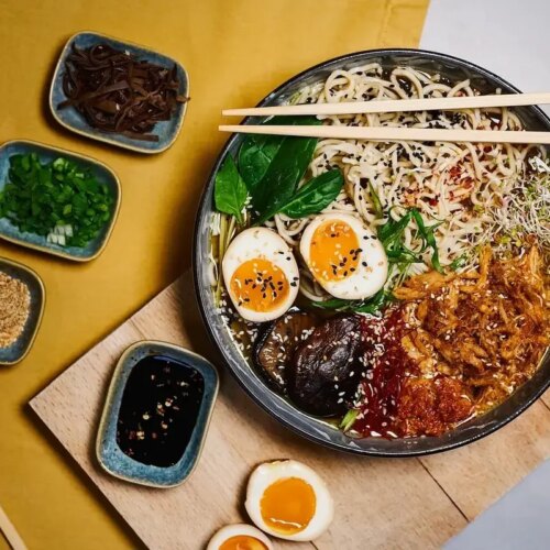
M 112 217 L 108 222 L 107 226 L 107 231 L 105 233 L 103 240 L 101 242 L 101 245 L 98 246 L 96 252 L 94 254 L 90 254 L 89 256 L 77 256 L 75 254 L 70 254 L 69 252 L 64 252 L 62 250 L 54 250 L 48 246 L 45 246 L 43 244 L 35 244 L 30 241 L 26 241 L 25 239 L 18 239 L 16 237 L 9 237 L 0 232 L 0 239 L 7 242 L 10 242 L 12 244 L 16 244 L 19 246 L 23 246 L 25 249 L 31 249 L 31 250 L 36 250 L 38 252 L 43 252 L 45 254 L 51 254 L 53 256 L 58 256 L 63 257 L 64 260 L 70 260 L 72 262 L 78 262 L 78 263 L 86 263 L 86 262 L 91 262 L 92 260 L 96 260 L 106 249 L 107 244 L 109 243 L 111 239 L 111 234 L 114 230 L 114 226 L 117 223 L 117 220 L 119 218 L 119 212 L 120 212 L 120 207 L 122 205 L 122 185 L 120 184 L 120 179 L 118 174 L 107 164 L 105 164 L 101 161 L 98 161 L 97 158 L 94 158 L 91 156 L 82 155 L 81 153 L 77 153 L 76 151 L 72 151 L 68 148 L 63 148 L 63 147 L 57 147 L 55 145 L 50 145 L 47 143 L 42 143 L 38 141 L 34 140 L 10 140 L 0 145 L 0 155 L 2 154 L 3 150 L 9 147 L 10 145 L 15 145 L 15 144 L 23 144 L 23 145 L 31 145 L 35 147 L 42 147 L 44 150 L 53 151 L 55 153 L 59 154 L 65 154 L 65 155 L 70 155 L 73 157 L 77 157 L 80 161 L 84 161 L 85 163 L 88 164 L 95 164 L 96 166 L 100 166 L 101 168 L 106 169 L 111 176 L 114 182 L 114 187 L 117 189 L 117 197 L 116 197 L 116 204 L 114 204 L 114 209 L 112 211 Z

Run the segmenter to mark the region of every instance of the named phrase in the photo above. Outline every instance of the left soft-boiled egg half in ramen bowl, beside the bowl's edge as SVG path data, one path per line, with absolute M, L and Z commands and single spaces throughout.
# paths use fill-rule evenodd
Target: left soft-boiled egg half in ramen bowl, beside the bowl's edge
M 288 244 L 267 228 L 250 228 L 228 246 L 226 288 L 239 315 L 264 322 L 280 317 L 298 294 L 300 275 Z

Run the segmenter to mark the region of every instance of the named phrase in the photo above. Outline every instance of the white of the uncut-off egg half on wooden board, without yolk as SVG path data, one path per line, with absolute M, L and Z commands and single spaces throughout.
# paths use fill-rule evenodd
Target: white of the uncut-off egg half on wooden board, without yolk
M 267 526 L 262 517 L 261 501 L 265 490 L 273 483 L 287 477 L 298 477 L 311 485 L 316 495 L 316 510 L 308 526 L 299 532 L 282 534 Z M 296 460 L 284 460 L 260 464 L 250 476 L 244 503 L 250 518 L 263 531 L 287 540 L 309 541 L 322 535 L 334 517 L 332 496 L 315 470 Z

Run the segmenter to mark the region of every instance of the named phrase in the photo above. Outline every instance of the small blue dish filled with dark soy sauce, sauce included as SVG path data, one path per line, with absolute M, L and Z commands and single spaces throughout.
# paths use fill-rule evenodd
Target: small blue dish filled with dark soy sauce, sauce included
M 177 345 L 142 341 L 120 358 L 99 425 L 96 454 L 111 475 L 173 487 L 194 471 L 218 394 L 218 373 Z

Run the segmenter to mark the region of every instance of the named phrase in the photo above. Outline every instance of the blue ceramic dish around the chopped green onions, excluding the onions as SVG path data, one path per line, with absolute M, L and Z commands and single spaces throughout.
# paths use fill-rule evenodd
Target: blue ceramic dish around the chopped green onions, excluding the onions
M 111 237 L 114 222 L 119 215 L 121 201 L 120 182 L 114 172 L 103 163 L 84 156 L 78 153 L 73 153 L 51 145 L 44 145 L 32 141 L 10 141 L 0 146 L 0 191 L 6 186 L 8 172 L 10 169 L 10 157 L 12 155 L 21 155 L 28 153 L 36 153 L 42 163 L 54 161 L 59 156 L 69 158 L 70 161 L 88 168 L 96 176 L 97 180 L 109 187 L 113 205 L 111 218 L 101 229 L 96 239 L 91 240 L 85 248 L 79 246 L 61 246 L 58 244 L 47 242 L 45 237 L 35 233 L 20 231 L 9 219 L 0 218 L 0 239 L 10 241 L 29 249 L 38 250 L 56 256 L 62 256 L 75 262 L 89 262 L 101 254 Z

